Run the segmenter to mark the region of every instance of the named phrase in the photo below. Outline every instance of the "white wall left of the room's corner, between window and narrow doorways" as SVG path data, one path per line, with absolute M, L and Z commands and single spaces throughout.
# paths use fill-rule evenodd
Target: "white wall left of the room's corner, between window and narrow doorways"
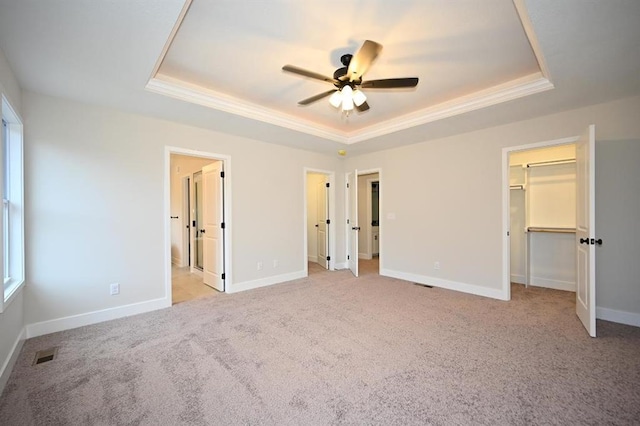
M 231 194 L 226 194 L 232 198 L 231 291 L 303 275 L 302 172 L 305 167 L 340 170 L 337 155 L 29 92 L 23 101 L 30 333 L 122 315 L 135 311 L 138 305 L 132 304 L 168 306 L 165 146 L 231 156 Z M 344 198 L 341 187 L 336 198 Z M 343 218 L 338 211 L 339 235 Z M 344 258 L 344 247 L 339 249 L 337 256 Z M 265 265 L 261 271 L 259 261 Z M 109 296 L 111 282 L 120 283 L 119 295 Z M 105 311 L 110 308 L 115 312 Z M 95 312 L 101 314 L 86 315 Z

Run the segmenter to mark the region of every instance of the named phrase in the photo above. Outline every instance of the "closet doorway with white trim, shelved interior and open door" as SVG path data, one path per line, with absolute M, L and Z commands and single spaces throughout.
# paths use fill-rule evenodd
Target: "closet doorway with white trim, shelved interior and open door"
M 503 299 L 512 282 L 575 292 L 596 336 L 595 126 L 582 135 L 502 150 Z

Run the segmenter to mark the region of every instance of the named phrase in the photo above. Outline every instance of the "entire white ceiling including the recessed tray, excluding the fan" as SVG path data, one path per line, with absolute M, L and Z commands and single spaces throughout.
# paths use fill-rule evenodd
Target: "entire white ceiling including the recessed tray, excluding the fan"
M 273 143 L 367 152 L 640 94 L 636 0 L 0 0 L 24 89 Z M 322 99 L 364 40 L 384 48 L 345 117 Z

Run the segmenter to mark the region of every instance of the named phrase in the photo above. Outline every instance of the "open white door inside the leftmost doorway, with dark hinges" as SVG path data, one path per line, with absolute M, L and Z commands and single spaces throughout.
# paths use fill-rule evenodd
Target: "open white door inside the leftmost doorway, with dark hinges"
M 224 291 L 224 202 L 222 161 L 202 168 L 203 281 Z

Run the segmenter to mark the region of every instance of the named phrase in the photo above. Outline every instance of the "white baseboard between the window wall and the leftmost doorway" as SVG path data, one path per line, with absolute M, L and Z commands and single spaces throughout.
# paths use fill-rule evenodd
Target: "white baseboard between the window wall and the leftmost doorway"
M 151 312 L 157 309 L 169 307 L 171 307 L 171 300 L 164 297 L 162 299 L 148 300 L 146 302 L 133 303 L 131 305 L 117 306 L 115 308 L 103 309 L 100 311 L 87 312 L 85 314 L 78 314 L 49 321 L 37 322 L 35 324 L 27 325 L 27 338 L 42 336 L 49 333 L 56 333 L 63 330 L 70 330 L 72 328 L 97 324 L 103 321 L 143 314 L 145 312 Z

